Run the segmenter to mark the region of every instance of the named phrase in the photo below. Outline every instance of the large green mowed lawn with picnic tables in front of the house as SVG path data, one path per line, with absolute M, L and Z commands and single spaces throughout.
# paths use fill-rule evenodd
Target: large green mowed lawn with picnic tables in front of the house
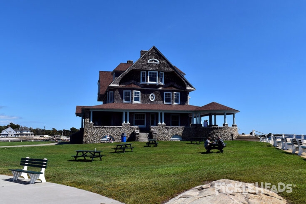
M 62 144 L 0 148 L 0 174 L 12 175 L 21 157 L 47 158 L 46 180 L 77 187 L 130 204 L 164 203 L 192 187 L 218 179 L 294 185 L 279 195 L 291 203 L 306 200 L 306 160 L 260 142 L 226 141 L 224 153 L 205 152 L 203 143 L 159 141 L 158 147 L 132 142 L 133 152 L 114 153 L 115 143 Z M 102 150 L 102 161 L 71 155 L 74 150 Z

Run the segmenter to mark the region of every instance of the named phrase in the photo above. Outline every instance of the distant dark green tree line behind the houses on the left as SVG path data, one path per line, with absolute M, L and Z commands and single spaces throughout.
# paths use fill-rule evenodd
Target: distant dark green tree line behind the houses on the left
M 14 124 L 14 123 L 9 123 L 9 125 L 0 125 L 0 132 L 2 132 L 2 130 L 5 130 L 8 127 L 11 127 L 13 129 L 18 129 L 21 126 L 19 124 Z M 28 127 L 29 128 L 29 127 Z M 31 127 L 30 127 L 31 128 Z M 30 129 L 29 128 L 29 129 Z M 68 135 L 72 135 L 75 132 L 78 132 L 79 129 L 76 128 L 70 128 L 70 130 L 57 130 L 55 128 L 52 128 L 52 130 L 46 130 L 46 129 L 41 129 L 41 128 L 31 128 L 31 132 L 34 133 L 34 135 L 64 135 L 64 136 L 68 136 Z

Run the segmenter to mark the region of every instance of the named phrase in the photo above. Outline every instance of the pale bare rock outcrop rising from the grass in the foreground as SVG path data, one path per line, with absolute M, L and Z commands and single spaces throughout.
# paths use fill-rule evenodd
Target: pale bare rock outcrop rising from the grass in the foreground
M 245 203 L 286 204 L 275 192 L 239 181 L 221 179 L 192 188 L 166 202 L 166 204 Z

